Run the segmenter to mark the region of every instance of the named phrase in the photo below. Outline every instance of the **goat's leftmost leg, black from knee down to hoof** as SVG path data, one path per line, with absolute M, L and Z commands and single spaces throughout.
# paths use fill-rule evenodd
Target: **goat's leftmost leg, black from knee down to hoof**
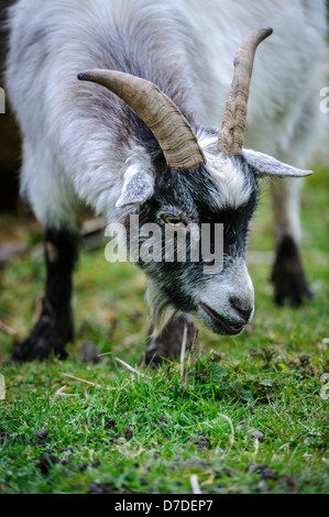
M 29 338 L 12 351 L 14 361 L 46 359 L 52 351 L 64 359 L 73 340 L 70 308 L 72 274 L 77 258 L 78 235 L 47 229 L 45 235 L 46 288 L 40 318 Z

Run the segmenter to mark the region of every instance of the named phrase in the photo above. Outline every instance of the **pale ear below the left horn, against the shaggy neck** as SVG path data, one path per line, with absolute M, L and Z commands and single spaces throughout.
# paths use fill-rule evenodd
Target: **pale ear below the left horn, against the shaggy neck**
M 151 173 L 131 166 L 125 170 L 121 195 L 116 202 L 117 208 L 129 205 L 141 205 L 154 193 L 154 179 Z

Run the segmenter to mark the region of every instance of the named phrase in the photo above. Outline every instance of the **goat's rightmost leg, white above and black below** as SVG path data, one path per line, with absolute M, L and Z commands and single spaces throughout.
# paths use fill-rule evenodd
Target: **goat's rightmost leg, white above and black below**
M 271 184 L 276 257 L 272 270 L 275 302 L 298 307 L 311 298 L 298 251 L 300 239 L 300 179 L 278 179 Z

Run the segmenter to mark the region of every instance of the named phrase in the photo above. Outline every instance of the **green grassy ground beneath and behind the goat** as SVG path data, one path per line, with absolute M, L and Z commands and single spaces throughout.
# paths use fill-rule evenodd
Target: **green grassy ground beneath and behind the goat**
M 10 364 L 12 340 L 0 333 L 0 493 L 191 493 L 193 474 L 204 494 L 327 493 L 328 187 L 328 170 L 318 170 L 304 189 L 303 252 L 315 299 L 298 310 L 273 304 L 264 189 L 249 246 L 253 322 L 237 338 L 202 328 L 185 378 L 179 364 L 142 370 L 152 380 L 116 364 L 113 356 L 131 365 L 142 358 L 145 280 L 128 264 L 108 264 L 103 250 L 83 253 L 69 360 Z M 2 275 L 1 319 L 20 337 L 43 278 L 37 245 Z M 106 354 L 96 365 L 80 359 L 90 340 Z

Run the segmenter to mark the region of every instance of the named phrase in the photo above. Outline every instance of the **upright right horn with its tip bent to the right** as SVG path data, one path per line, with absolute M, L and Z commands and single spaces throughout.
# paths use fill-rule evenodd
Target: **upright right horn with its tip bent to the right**
M 242 153 L 246 105 L 253 62 L 259 44 L 268 37 L 273 29 L 260 29 L 249 34 L 241 43 L 235 59 L 234 75 L 218 136 L 218 147 L 227 156 Z

